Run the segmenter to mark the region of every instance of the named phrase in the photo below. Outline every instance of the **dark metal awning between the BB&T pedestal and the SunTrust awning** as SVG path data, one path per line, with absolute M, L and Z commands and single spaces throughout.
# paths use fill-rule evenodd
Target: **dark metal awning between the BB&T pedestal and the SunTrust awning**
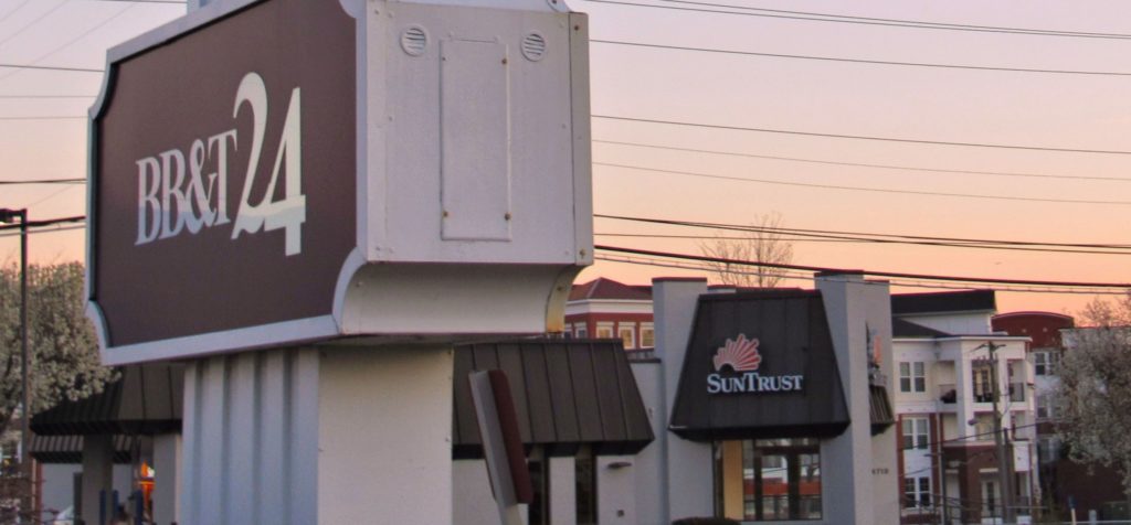
M 452 456 L 482 456 L 467 376 L 507 373 L 519 432 L 527 446 L 568 455 L 636 454 L 654 439 L 636 378 L 619 341 L 518 340 L 457 347 Z

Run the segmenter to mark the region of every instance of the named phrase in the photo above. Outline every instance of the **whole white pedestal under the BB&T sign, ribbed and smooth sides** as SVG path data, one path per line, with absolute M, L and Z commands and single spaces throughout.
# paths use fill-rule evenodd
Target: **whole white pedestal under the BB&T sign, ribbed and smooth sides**
M 449 523 L 451 367 L 448 347 L 192 362 L 183 523 Z

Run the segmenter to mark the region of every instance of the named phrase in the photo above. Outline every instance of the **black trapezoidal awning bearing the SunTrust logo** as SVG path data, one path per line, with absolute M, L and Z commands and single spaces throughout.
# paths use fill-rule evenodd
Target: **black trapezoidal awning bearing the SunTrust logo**
M 705 295 L 671 430 L 694 440 L 831 437 L 848 428 L 819 291 Z

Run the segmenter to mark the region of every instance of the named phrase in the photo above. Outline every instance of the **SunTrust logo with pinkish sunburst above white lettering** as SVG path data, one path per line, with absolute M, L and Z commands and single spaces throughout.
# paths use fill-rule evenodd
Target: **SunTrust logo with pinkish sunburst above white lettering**
M 800 392 L 803 379 L 801 375 L 763 376 L 757 371 L 762 364 L 762 356 L 758 352 L 759 344 L 758 339 L 746 339 L 741 333 L 735 339 L 727 339 L 711 359 L 715 374 L 707 376 L 707 393 Z M 741 375 L 723 376 L 724 367 L 731 367 Z

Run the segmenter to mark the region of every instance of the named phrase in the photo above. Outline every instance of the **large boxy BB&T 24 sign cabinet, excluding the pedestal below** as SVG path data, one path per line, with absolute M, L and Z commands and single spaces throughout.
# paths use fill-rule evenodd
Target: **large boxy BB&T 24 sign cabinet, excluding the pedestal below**
M 111 50 L 105 360 L 553 331 L 593 256 L 588 34 L 534 6 L 225 0 Z

